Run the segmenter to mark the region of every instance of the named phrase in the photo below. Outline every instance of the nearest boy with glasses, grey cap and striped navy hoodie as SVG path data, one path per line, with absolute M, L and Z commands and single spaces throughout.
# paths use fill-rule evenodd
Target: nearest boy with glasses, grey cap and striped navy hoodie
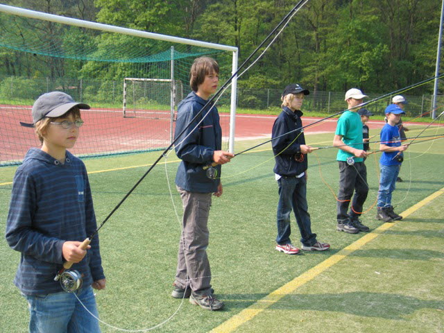
M 83 125 L 80 108 L 63 92 L 49 92 L 33 105 L 42 148 L 31 148 L 17 168 L 6 224 L 6 241 L 22 253 L 14 283 L 28 300 L 29 331 L 100 332 L 94 289 L 105 289 L 99 238 L 80 244 L 96 230 L 85 164 L 69 153 Z M 82 275 L 83 287 L 62 291 L 54 280 L 65 262 Z

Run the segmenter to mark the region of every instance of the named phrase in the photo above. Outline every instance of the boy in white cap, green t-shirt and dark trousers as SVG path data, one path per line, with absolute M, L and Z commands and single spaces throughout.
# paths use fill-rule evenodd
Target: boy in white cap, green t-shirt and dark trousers
M 370 230 L 359 219 L 368 194 L 367 169 L 364 164 L 367 153 L 364 151 L 361 117 L 357 113 L 365 97 L 367 96 L 356 88 L 345 93 L 348 110 L 338 119 L 333 139 L 333 146 L 339 148 L 336 157 L 339 163 L 336 230 L 349 234 Z M 347 213 L 352 196 L 350 212 Z

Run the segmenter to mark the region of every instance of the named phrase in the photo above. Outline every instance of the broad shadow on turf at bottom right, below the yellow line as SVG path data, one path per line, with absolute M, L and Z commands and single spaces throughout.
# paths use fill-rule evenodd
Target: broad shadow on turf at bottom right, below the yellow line
M 232 307 L 232 304 L 228 304 Z M 258 307 L 259 309 L 259 307 Z M 334 311 L 355 316 L 404 320 L 408 314 L 421 309 L 444 309 L 444 302 L 419 300 L 395 293 L 323 293 L 289 295 L 271 305 L 273 310 Z

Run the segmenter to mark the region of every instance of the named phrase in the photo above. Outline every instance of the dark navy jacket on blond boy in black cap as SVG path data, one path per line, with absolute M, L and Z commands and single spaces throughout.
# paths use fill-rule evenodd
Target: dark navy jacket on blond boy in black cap
M 300 145 L 305 144 L 304 132 L 300 129 L 302 128 L 300 117 L 302 117 L 300 110 L 293 112 L 289 108 L 283 107 L 273 124 L 271 133 L 273 139 L 271 146 L 275 155 L 273 171 L 280 176 L 299 176 L 307 170 L 307 154 L 302 154 L 304 156 L 302 162 L 297 162 L 294 158 L 296 153 L 300 153 Z M 298 128 L 300 130 L 297 130 Z M 285 133 L 288 134 L 284 135 Z M 283 136 L 280 137 L 280 135 Z M 278 138 L 275 139 L 275 137 Z

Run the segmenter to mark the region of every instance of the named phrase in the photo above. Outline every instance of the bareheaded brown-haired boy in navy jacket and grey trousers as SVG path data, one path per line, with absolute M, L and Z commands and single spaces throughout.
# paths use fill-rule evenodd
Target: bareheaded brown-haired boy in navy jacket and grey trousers
M 222 130 L 219 113 L 214 105 L 203 110 L 196 121 L 188 126 L 214 94 L 219 84 L 219 65 L 208 57 L 194 60 L 191 66 L 190 85 L 193 92 L 180 102 L 176 122 L 176 155 L 182 160 L 176 174 L 176 185 L 182 198 L 183 219 L 180 237 L 176 281 L 171 296 L 187 298 L 191 304 L 203 309 L 219 310 L 223 302 L 216 299 L 211 288 L 210 262 L 207 258 L 209 232 L 207 228 L 212 194 L 222 195 L 221 165 L 218 177 L 207 177 L 205 165 L 225 164 L 234 155 L 222 151 Z M 187 127 L 188 126 L 188 127 Z

